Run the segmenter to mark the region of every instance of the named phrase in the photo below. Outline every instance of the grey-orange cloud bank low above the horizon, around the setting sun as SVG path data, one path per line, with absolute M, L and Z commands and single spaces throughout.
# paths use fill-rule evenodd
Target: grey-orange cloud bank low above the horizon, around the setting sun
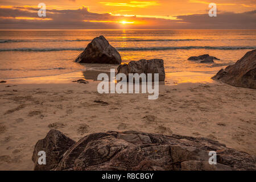
M 205 28 L 255 29 L 256 10 L 245 13 L 218 12 L 205 14 L 152 16 L 92 13 L 87 7 L 76 10 L 47 9 L 46 17 L 38 17 L 38 7 L 0 7 L 0 28 Z

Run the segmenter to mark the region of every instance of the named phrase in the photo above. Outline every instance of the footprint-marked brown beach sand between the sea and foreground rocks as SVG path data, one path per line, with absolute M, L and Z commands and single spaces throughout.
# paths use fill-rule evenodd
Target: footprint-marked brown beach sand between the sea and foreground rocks
M 158 100 L 148 100 L 148 94 L 99 94 L 93 81 L 13 85 L 0 84 L 0 170 L 32 170 L 34 146 L 50 129 L 76 141 L 109 130 L 175 133 L 256 155 L 253 89 L 219 82 L 160 85 Z

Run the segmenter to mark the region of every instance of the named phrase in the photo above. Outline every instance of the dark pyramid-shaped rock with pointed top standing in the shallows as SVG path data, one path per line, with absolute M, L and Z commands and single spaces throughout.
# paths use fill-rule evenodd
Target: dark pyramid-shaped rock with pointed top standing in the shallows
M 104 36 L 94 38 L 77 59 L 77 63 L 121 64 L 122 59 Z

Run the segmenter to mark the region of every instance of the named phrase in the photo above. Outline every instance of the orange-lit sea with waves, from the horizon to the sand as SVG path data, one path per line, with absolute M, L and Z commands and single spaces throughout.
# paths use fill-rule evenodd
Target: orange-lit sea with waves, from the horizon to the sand
M 64 83 L 86 77 L 86 71 L 116 69 L 118 65 L 75 63 L 100 35 L 118 50 L 122 64 L 163 59 L 167 84 L 211 82 L 221 68 L 256 49 L 256 30 L 0 30 L 0 80 Z M 203 54 L 220 60 L 187 60 Z

